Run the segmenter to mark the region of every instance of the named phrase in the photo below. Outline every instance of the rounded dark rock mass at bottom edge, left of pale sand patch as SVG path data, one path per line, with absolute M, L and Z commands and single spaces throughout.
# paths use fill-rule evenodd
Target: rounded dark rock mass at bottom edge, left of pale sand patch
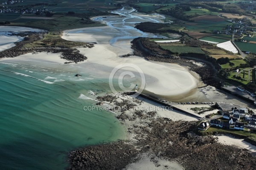
M 100 144 L 70 152 L 70 170 L 122 170 L 136 160 L 137 150 L 125 141 Z

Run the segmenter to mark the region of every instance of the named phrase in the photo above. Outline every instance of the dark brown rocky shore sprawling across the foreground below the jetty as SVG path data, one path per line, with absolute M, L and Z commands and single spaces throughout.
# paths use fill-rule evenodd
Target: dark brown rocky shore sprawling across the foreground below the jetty
M 114 106 L 112 111 L 133 138 L 74 150 L 69 154 L 69 170 L 122 170 L 145 153 L 149 153 L 151 161 L 155 161 L 155 156 L 177 161 L 186 170 L 256 168 L 256 157 L 247 150 L 220 144 L 213 136 L 198 136 L 195 133 L 198 122 L 173 121 L 155 111 L 120 110 L 119 107 L 132 108 L 131 105 L 143 103 L 127 93 L 106 95 L 98 100 Z M 164 166 L 157 161 L 154 164 Z

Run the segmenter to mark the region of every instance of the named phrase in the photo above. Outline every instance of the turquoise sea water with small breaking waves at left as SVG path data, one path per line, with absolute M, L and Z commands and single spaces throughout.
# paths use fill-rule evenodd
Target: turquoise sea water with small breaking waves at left
M 90 91 L 108 92 L 107 82 L 0 62 L 0 169 L 64 170 L 70 150 L 120 138 L 113 113 L 83 110 L 96 103 Z

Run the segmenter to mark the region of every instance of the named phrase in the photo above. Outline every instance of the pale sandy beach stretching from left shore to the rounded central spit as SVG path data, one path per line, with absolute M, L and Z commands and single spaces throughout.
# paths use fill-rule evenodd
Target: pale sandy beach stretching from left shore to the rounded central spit
M 12 29 L 9 30 L 12 31 Z M 15 30 L 16 28 L 13 31 Z M 113 45 L 110 45 L 110 41 L 116 36 L 120 36 L 120 33 L 115 28 L 108 26 L 64 31 L 62 38 L 65 40 L 97 42 L 93 48 L 78 48 L 80 53 L 84 54 L 88 59 L 79 64 L 70 65 L 73 65 L 73 68 L 75 67 L 80 72 L 97 68 L 97 72 L 100 73 L 101 77 L 108 78 L 113 68 L 120 64 L 129 63 L 138 66 L 143 71 L 145 75 L 144 90 L 148 93 L 163 96 L 166 99 L 173 99 L 174 101 L 182 101 L 192 96 L 192 98 L 195 96 L 203 97 L 202 94 L 195 90 L 203 83 L 198 80 L 198 77 L 190 74 L 187 68 L 177 64 L 151 62 L 137 56 L 121 57 L 125 54 L 132 54 L 131 44 L 130 40 L 116 40 Z M 41 64 L 44 64 L 43 62 L 51 62 L 64 65 L 65 62 L 64 59 L 60 59 L 60 54 L 50 53 L 29 53 L 15 58 L 4 58 L 1 61 L 35 62 L 38 65 L 40 65 L 40 62 Z M 65 68 L 67 68 L 66 65 Z M 138 84 L 140 88 L 142 77 L 138 71 L 133 66 L 128 66 L 119 69 L 118 73 L 121 74 L 125 71 L 134 73 L 135 77 L 128 77 L 127 80 L 131 81 L 134 86 Z M 118 76 L 115 75 L 116 78 Z

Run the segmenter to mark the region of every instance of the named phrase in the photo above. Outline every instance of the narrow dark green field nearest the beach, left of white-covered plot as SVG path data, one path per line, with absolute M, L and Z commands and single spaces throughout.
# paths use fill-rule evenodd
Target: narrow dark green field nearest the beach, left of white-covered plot
M 172 46 L 172 45 L 160 45 L 163 49 L 172 51 L 174 53 L 198 53 L 204 54 L 201 48 L 189 47 L 189 46 Z

